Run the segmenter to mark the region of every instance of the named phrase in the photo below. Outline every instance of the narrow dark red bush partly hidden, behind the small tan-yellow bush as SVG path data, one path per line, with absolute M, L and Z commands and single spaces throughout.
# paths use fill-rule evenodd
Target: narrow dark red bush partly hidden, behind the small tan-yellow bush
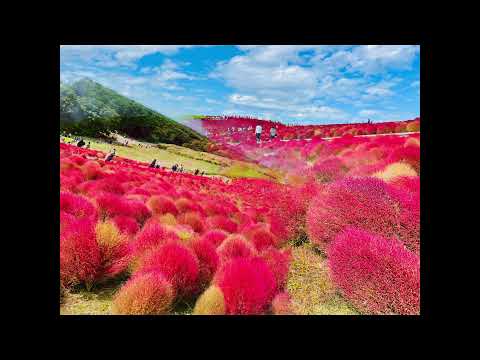
M 215 246 L 208 239 L 195 239 L 191 247 L 199 261 L 199 289 L 204 289 L 217 271 L 219 257 Z

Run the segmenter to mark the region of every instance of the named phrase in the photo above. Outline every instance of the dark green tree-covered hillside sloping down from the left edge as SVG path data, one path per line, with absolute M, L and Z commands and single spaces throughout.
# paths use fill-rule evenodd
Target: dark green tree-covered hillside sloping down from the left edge
M 207 138 L 90 79 L 60 84 L 60 129 L 98 137 L 118 131 L 149 142 L 205 150 Z

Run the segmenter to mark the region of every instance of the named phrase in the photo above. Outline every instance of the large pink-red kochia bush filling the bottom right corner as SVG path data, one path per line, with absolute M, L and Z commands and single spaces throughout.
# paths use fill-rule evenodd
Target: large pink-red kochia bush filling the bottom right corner
M 328 257 L 334 283 L 362 312 L 419 314 L 420 260 L 400 242 L 347 228 Z

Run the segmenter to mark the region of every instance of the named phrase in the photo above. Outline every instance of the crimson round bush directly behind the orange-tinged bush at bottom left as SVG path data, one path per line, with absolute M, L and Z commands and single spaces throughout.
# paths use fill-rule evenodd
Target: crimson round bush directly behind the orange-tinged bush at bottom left
M 199 261 L 184 245 L 169 242 L 145 256 L 140 273 L 161 272 L 180 297 L 190 296 L 198 289 Z

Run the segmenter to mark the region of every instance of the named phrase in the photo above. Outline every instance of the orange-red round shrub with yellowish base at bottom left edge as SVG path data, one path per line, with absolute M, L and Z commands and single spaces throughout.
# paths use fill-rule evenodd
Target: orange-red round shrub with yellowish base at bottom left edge
M 161 315 L 170 311 L 175 290 L 156 271 L 131 278 L 114 298 L 114 313 L 119 315 Z

